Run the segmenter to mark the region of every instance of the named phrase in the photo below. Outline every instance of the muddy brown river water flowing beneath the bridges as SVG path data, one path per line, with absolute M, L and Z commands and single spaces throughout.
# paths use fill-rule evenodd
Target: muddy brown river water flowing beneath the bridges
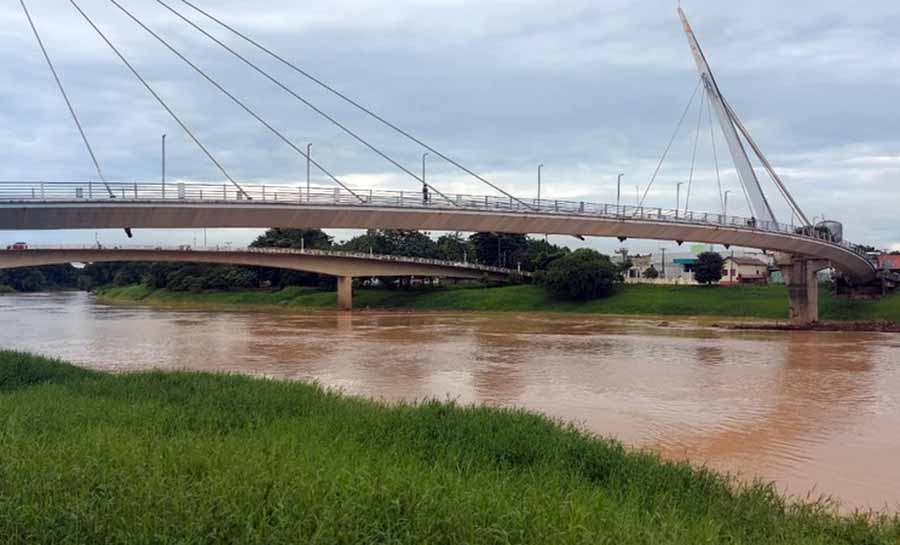
M 900 510 L 900 335 L 560 314 L 210 312 L 0 297 L 0 347 L 108 371 L 519 406 L 844 510 Z

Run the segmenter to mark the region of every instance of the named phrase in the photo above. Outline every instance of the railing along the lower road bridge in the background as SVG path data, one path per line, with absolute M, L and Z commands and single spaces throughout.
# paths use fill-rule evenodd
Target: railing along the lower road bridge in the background
M 151 244 L 128 244 L 128 245 L 108 245 L 108 244 L 29 244 L 27 248 L 22 250 L 2 250 L 0 252 L 29 252 L 29 251 L 139 251 L 139 252 L 196 252 L 196 253 L 251 253 L 251 254 L 278 254 L 278 255 L 297 255 L 297 256 L 320 256 L 320 257 L 338 257 L 345 259 L 365 259 L 369 261 L 385 261 L 391 263 L 414 263 L 417 265 L 434 265 L 439 267 L 451 267 L 457 269 L 467 269 L 482 272 L 491 272 L 504 275 L 520 274 L 530 276 L 527 271 L 519 271 L 515 269 L 507 269 L 504 267 L 494 267 L 492 265 L 482 265 L 471 261 L 448 261 L 443 259 L 432 259 L 427 257 L 407 257 L 396 255 L 384 255 L 375 253 L 362 252 L 345 252 L 340 250 L 313 250 L 299 248 L 254 248 L 243 246 L 192 246 L 189 244 L 181 244 L 177 246 L 162 246 Z

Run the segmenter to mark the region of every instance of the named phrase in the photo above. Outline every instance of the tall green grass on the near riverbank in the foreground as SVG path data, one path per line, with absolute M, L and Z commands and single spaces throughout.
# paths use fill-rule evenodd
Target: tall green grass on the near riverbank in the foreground
M 545 417 L 0 352 L 3 543 L 900 542 Z

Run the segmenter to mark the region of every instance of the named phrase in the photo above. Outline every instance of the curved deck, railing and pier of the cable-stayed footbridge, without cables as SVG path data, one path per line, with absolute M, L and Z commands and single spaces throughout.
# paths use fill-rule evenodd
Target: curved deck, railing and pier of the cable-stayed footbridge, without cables
M 582 201 L 242 184 L 0 182 L 0 230 L 355 228 L 548 233 L 692 241 L 777 252 L 791 318 L 818 319 L 815 271 L 876 278 L 865 253 L 813 230 L 753 218 Z

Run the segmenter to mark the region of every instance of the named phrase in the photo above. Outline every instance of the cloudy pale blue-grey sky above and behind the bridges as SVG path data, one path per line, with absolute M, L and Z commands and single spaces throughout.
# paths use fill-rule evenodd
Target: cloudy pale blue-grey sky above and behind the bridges
M 108 0 L 76 0 L 232 176 L 305 183 L 306 161 L 138 27 Z M 354 187 L 416 190 L 417 182 L 191 29 L 155 1 L 118 0 L 234 95 Z M 165 0 L 413 172 L 423 150 L 222 31 Z M 632 204 L 653 177 L 697 72 L 674 0 L 194 0 L 468 168 L 523 197 Z M 68 0 L 27 2 L 110 180 L 158 180 L 167 134 L 170 180 L 221 181 L 153 97 Z M 684 0 L 719 87 L 810 218 L 844 223 L 854 242 L 900 249 L 900 3 L 865 0 Z M 96 179 L 18 2 L 0 6 L 0 180 Z M 720 212 L 710 127 L 692 106 L 648 191 L 674 208 Z M 698 123 L 699 121 L 699 123 Z M 749 216 L 724 140 L 714 131 L 728 213 Z M 696 144 L 695 144 L 696 143 Z M 428 158 L 446 192 L 495 194 Z M 313 184 L 330 185 L 313 173 Z M 637 186 L 637 187 L 636 187 Z M 791 214 L 770 182 L 784 222 Z M 682 188 L 681 199 L 685 198 Z M 681 201 L 682 205 L 684 201 Z M 210 230 L 210 244 L 259 231 Z M 338 240 L 352 236 L 335 231 Z M 0 243 L 121 242 L 118 231 L 2 232 Z M 202 241 L 199 231 L 138 232 L 138 244 Z M 616 240 L 579 243 L 604 251 Z M 655 241 L 628 241 L 656 251 Z

